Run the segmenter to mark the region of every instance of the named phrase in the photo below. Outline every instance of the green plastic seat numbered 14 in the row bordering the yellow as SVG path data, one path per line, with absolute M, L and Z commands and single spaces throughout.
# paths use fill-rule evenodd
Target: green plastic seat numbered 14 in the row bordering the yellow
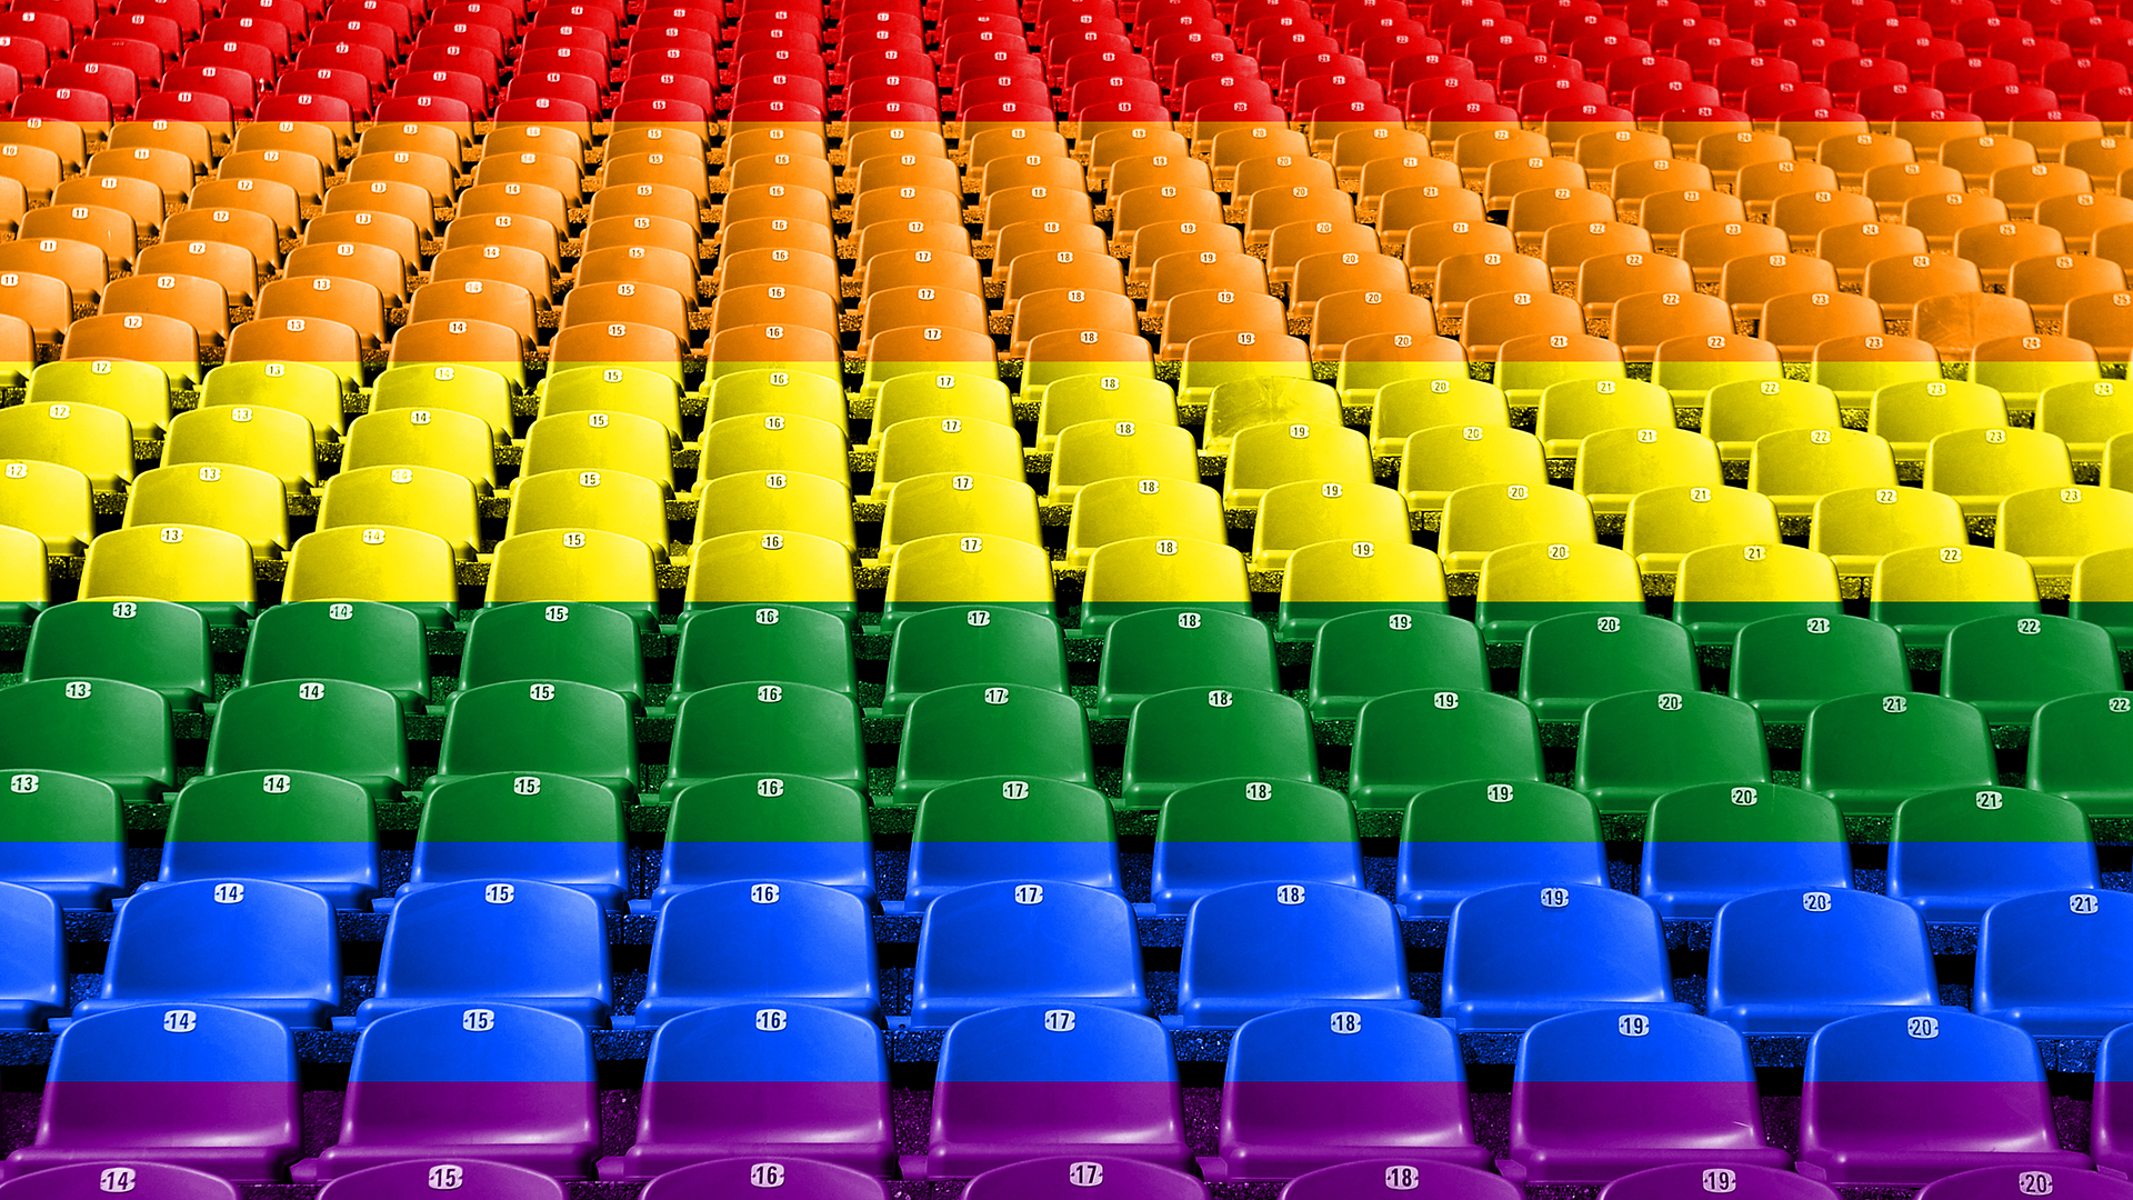
M 341 679 L 429 702 L 429 647 L 422 617 L 371 600 L 296 600 L 252 621 L 243 683 Z

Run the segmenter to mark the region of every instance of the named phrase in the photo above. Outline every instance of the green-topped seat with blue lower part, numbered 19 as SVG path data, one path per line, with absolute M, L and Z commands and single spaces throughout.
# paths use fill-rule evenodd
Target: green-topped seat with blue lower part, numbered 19
M 1399 910 L 1450 916 L 1508 884 L 1606 886 L 1606 843 L 1591 801 L 1525 779 L 1472 779 L 1408 801 L 1399 835 Z

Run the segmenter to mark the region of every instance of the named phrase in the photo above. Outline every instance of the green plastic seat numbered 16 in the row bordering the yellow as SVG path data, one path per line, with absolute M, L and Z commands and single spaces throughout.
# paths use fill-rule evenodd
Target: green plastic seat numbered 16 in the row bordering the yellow
M 668 711 L 678 709 L 689 692 L 757 679 L 857 696 L 851 626 L 806 604 L 727 604 L 689 615 L 674 651 Z

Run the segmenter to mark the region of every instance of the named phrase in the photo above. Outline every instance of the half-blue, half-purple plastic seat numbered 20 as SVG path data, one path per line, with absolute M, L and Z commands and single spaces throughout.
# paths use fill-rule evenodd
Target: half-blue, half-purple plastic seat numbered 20
M 1800 1174 L 1832 1187 L 1922 1185 L 1992 1164 L 2086 1170 L 2058 1149 L 2028 1033 L 1956 1008 L 1824 1025 L 1800 1085 Z

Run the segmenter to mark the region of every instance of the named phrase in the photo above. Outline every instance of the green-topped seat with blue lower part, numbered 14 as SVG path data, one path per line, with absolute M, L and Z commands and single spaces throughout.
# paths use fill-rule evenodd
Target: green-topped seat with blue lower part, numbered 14
M 358 784 L 316 771 L 196 775 L 171 805 L 162 873 L 275 880 L 363 912 L 378 897 L 378 818 Z

